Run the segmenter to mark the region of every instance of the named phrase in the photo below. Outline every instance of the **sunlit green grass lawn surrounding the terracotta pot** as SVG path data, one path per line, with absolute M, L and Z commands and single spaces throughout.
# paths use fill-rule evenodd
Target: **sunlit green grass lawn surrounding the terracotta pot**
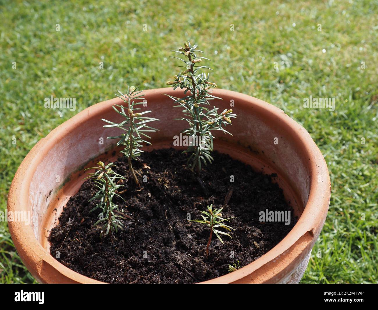
M 218 87 L 285 111 L 327 161 L 330 209 L 301 283 L 377 282 L 377 2 L 2 0 L 0 20 L 0 210 L 42 137 L 127 84 L 164 87 L 178 65 L 169 50 L 189 39 Z M 45 109 L 51 95 L 75 97 L 76 111 Z M 304 109 L 310 95 L 335 98 L 335 111 Z M 36 283 L 4 222 L 2 282 Z

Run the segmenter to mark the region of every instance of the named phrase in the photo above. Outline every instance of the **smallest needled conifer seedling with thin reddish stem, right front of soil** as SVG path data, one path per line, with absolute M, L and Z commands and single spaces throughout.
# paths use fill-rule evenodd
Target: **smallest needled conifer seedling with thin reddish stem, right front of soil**
M 235 218 L 235 217 L 222 218 L 222 213 L 221 213 L 222 210 L 223 210 L 223 208 L 213 210 L 213 206 L 211 204 L 210 206 L 208 206 L 207 211 L 201 211 L 201 213 L 206 215 L 206 216 L 203 216 L 201 214 L 202 220 L 191 220 L 191 221 L 194 221 L 194 222 L 197 222 L 197 223 L 206 224 L 207 226 L 210 227 L 210 237 L 209 237 L 208 245 L 206 246 L 206 254 L 205 254 L 206 260 L 209 257 L 209 246 L 210 246 L 210 242 L 211 242 L 213 232 L 218 237 L 220 242 L 222 242 L 222 244 L 224 244 L 224 242 L 223 242 L 223 240 L 222 240 L 222 238 L 220 237 L 219 234 L 226 235 L 226 236 L 232 238 L 231 235 L 229 235 L 226 232 L 220 231 L 219 228 L 224 228 L 228 231 L 233 230 L 233 228 L 231 226 L 228 226 L 228 225 L 224 224 L 223 222 L 225 222 L 225 221 L 229 222 L 229 220 L 231 218 Z

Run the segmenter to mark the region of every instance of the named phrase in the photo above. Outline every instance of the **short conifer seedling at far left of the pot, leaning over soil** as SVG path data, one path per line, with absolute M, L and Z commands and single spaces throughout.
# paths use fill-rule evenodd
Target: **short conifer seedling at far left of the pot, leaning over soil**
M 115 215 L 115 210 L 118 212 L 119 210 L 118 205 L 113 203 L 113 197 L 115 195 L 119 196 L 116 193 L 116 190 L 119 187 L 123 186 L 121 184 L 117 184 L 116 180 L 124 180 L 125 178 L 112 170 L 112 167 L 115 167 L 115 165 L 113 165 L 112 162 L 106 166 L 103 162 L 98 162 L 97 165 L 98 167 L 91 167 L 84 170 L 96 170 L 94 173 L 87 173 L 88 176 L 85 179 L 91 178 L 95 183 L 95 186 L 99 189 L 95 196 L 93 196 L 89 200 L 98 201 L 96 206 L 93 209 L 91 209 L 90 212 L 93 212 L 98 208 L 101 209 L 101 213 L 98 215 L 99 220 L 94 224 L 94 226 L 96 226 L 98 223 L 103 222 L 104 226 L 101 229 L 100 235 L 108 235 L 109 233 L 111 235 L 113 231 L 118 232 L 118 228 L 122 228 L 122 222 L 119 221 L 117 219 L 117 215 Z

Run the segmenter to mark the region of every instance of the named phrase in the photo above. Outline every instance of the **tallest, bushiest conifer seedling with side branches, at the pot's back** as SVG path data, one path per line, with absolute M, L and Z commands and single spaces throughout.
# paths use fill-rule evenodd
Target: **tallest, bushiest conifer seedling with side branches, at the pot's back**
M 221 130 L 230 134 L 223 127 L 231 125 L 231 118 L 235 118 L 236 114 L 232 114 L 231 109 L 225 109 L 222 113 L 218 114 L 218 108 L 213 106 L 208 109 L 210 105 L 209 100 L 222 99 L 211 95 L 211 87 L 217 87 L 217 84 L 209 82 L 209 73 L 201 72 L 202 69 L 209 69 L 209 67 L 200 65 L 203 59 L 210 60 L 204 57 L 198 57 L 197 53 L 203 51 L 197 50 L 197 45 L 191 45 L 190 42 L 185 42 L 184 47 L 179 47 L 173 51 L 179 53 L 180 59 L 184 62 L 182 67 L 184 70 L 174 76 L 174 81 L 168 81 L 167 85 L 171 85 L 174 89 L 180 87 L 185 89 L 185 97 L 177 98 L 169 96 L 174 103 L 178 103 L 176 107 L 182 107 L 184 116 L 181 120 L 186 120 L 189 123 L 189 128 L 184 129 L 181 133 L 192 137 L 191 143 L 184 153 L 191 153 L 188 162 L 192 161 L 191 168 L 197 168 L 197 176 L 201 171 L 201 161 L 207 165 L 214 160 L 211 156 L 213 151 L 213 139 L 211 131 Z M 184 58 L 184 59 L 182 59 Z

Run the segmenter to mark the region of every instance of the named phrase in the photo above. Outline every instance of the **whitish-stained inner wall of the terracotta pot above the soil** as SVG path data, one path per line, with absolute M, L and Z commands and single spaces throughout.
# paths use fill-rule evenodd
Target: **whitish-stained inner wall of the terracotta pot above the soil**
M 172 100 L 163 93 L 180 96 L 180 91 L 170 89 L 147 91 L 147 107 L 141 106 L 142 111 L 152 110 L 149 116 L 160 119 L 160 122 L 153 124 L 159 131 L 151 134 L 152 146 L 145 148 L 146 151 L 173 147 L 174 136 L 179 135 L 187 125 L 185 121 L 175 120 L 181 117 L 181 109 L 173 108 Z M 232 126 L 227 127 L 233 136 L 221 131 L 214 132 L 215 150 L 229 154 L 263 173 L 277 173 L 275 182 L 283 189 L 295 215 L 301 217 L 311 186 L 308 150 L 298 139 L 297 132 L 305 130 L 292 120 L 296 128 L 283 122 L 289 118 L 283 111 L 274 108 L 275 112 L 272 113 L 266 109 L 263 101 L 253 98 L 256 102 L 252 104 L 248 100 L 252 97 L 235 97 L 234 94 L 237 93 L 217 90 L 215 95 L 223 100 L 211 101 L 220 111 L 231 108 L 238 115 L 237 119 L 232 120 Z M 27 210 L 32 215 L 34 236 L 46 251 L 49 249 L 48 231 L 56 225 L 68 199 L 83 183 L 83 169 L 93 167 L 92 163 L 98 160 L 110 162 L 119 156 L 118 150 L 113 152 L 115 140 L 106 138 L 118 136 L 120 131 L 118 128 L 103 128 L 104 122 L 101 120 L 105 118 L 118 122 L 122 119 L 112 109 L 113 104 L 122 104 L 122 101 L 115 98 L 82 111 L 81 114 L 85 113 L 84 121 L 78 115 L 72 118 L 69 126 L 60 128 L 59 135 L 53 135 L 50 146 L 45 148 L 46 152 L 36 162 Z M 43 139 L 40 143 L 43 143 Z

